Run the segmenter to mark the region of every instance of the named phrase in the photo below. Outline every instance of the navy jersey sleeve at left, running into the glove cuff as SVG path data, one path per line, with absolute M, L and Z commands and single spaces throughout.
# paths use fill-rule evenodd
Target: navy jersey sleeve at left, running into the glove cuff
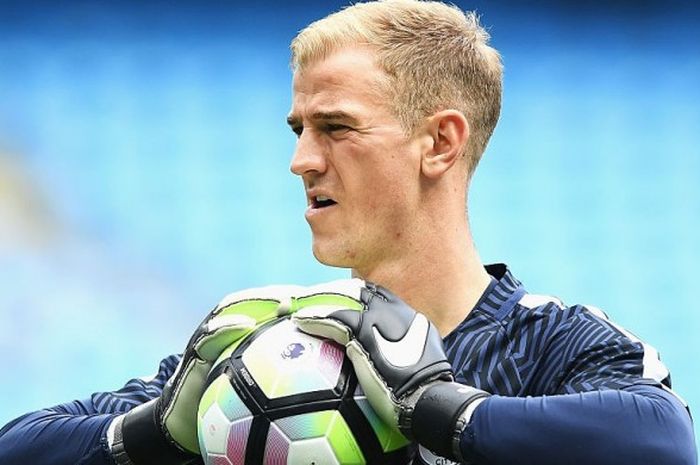
M 151 378 L 23 415 L 0 429 L 3 465 L 112 465 L 107 429 L 118 415 L 158 397 L 179 356 L 165 358 Z

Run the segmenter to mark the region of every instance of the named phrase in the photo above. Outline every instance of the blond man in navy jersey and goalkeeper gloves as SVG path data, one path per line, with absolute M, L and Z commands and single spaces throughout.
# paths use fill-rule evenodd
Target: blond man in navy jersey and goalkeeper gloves
M 314 255 L 356 279 L 227 297 L 154 380 L 12 422 L 0 462 L 198 461 L 193 412 L 213 360 L 293 313 L 346 345 L 374 408 L 421 445 L 416 463 L 696 463 L 690 417 L 653 349 L 480 262 L 465 209 L 500 110 L 487 39 L 474 15 L 414 0 L 357 4 L 302 31 L 291 170 Z M 360 310 L 304 303 L 319 293 Z M 272 305 L 231 311 L 250 299 Z

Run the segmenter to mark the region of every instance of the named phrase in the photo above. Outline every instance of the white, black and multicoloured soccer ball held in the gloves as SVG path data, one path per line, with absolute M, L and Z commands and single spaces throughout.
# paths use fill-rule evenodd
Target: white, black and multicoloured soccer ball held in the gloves
M 198 410 L 207 465 L 406 465 L 409 442 L 370 407 L 342 346 L 271 321 L 214 365 Z

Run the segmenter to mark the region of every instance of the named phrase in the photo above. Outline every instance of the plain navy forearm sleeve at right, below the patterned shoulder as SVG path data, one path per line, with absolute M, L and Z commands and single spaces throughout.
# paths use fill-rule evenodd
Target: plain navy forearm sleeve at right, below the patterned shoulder
M 492 396 L 460 438 L 469 464 L 696 465 L 693 427 L 650 385 L 540 397 Z

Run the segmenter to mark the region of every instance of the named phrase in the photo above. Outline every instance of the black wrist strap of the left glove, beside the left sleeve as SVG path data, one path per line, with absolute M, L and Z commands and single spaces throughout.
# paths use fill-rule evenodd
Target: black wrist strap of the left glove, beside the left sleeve
M 166 438 L 157 421 L 157 400 L 135 407 L 115 425 L 115 438 L 122 439 L 121 453 L 115 456 L 115 460 L 122 460 L 117 461 L 119 465 L 184 465 L 196 458 Z M 113 455 L 119 452 L 112 450 Z

